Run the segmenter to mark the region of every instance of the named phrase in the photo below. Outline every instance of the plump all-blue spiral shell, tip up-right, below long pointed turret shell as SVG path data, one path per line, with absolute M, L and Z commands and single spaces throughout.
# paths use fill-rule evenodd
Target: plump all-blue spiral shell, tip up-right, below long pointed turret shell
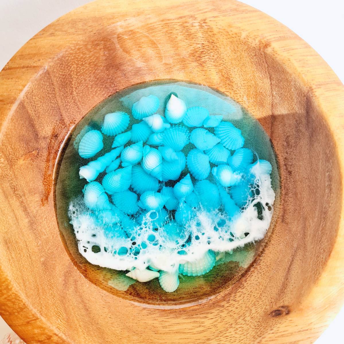
M 131 184 L 131 166 L 106 174 L 101 184 L 108 194 L 127 190 Z

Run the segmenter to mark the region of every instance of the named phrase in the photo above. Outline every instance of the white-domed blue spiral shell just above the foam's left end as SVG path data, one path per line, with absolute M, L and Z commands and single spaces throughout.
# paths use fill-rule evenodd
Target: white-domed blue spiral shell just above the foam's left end
M 84 202 L 91 210 L 111 209 L 104 187 L 98 182 L 90 182 L 84 186 Z

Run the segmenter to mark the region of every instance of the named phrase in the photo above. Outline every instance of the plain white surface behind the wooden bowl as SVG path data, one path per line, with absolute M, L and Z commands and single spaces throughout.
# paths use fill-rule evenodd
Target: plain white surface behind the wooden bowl
M 88 2 L 90 1 L 0 0 L 0 69 L 34 34 L 63 14 Z M 344 83 L 343 0 L 242 2 L 271 15 L 296 32 L 324 58 Z M 343 343 L 343 325 L 344 308 L 316 344 Z M 7 331 L 9 328 L 0 318 L 0 338 Z

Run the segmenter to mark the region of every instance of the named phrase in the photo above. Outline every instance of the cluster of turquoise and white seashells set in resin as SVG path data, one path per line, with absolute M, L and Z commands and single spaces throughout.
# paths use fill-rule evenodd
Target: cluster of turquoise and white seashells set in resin
M 159 106 L 156 96 L 142 97 L 131 108 L 134 124 L 126 112 L 112 112 L 105 115 L 100 130 L 89 130 L 80 139 L 80 157 L 97 154 L 97 158 L 85 161 L 79 170 L 86 180 L 83 201 L 89 212 L 71 223 L 75 231 L 85 219 L 102 228 L 106 251 L 118 259 L 132 257 L 128 277 L 140 282 L 158 278 L 163 290 L 173 292 L 179 286 L 179 274 L 201 276 L 223 254 L 221 248 L 207 249 L 196 259 L 190 257 L 188 245 L 201 239 L 192 228 L 211 212 L 218 214 L 218 223 L 233 221 L 259 194 L 257 165 L 270 174 L 271 164 L 253 162 L 252 151 L 243 148 L 240 129 L 223 121 L 222 115 L 210 115 L 200 106 L 187 108 L 174 94 L 162 113 Z M 103 135 L 113 137 L 108 152 L 102 151 Z M 256 206 L 257 216 L 265 206 Z M 140 235 L 140 230 L 146 235 Z M 247 236 L 228 232 L 226 240 Z M 167 247 L 171 255 L 180 256 L 179 265 L 163 270 L 157 259 L 136 266 L 150 247 L 164 252 Z

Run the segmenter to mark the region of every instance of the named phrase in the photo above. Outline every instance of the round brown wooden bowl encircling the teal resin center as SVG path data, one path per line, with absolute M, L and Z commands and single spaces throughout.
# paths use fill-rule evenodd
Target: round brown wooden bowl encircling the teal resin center
M 75 124 L 117 90 L 155 79 L 234 98 L 279 163 L 280 210 L 264 248 L 230 287 L 187 307 L 90 282 L 55 216 L 57 161 Z M 277 21 L 234 0 L 95 1 L 26 43 L 0 91 L 0 314 L 26 343 L 311 343 L 340 309 L 344 88 Z

